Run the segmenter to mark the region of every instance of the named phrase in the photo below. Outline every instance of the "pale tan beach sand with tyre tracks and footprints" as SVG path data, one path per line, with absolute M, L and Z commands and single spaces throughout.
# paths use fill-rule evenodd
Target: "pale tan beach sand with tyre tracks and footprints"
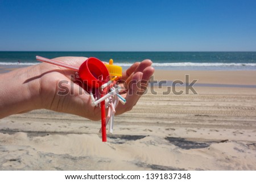
M 148 87 L 115 117 L 106 143 L 100 122 L 79 116 L 42 109 L 3 118 L 0 170 L 256 170 L 256 71 L 156 70 L 154 77 L 185 82 L 185 74 L 189 83 L 198 79 L 197 94 Z

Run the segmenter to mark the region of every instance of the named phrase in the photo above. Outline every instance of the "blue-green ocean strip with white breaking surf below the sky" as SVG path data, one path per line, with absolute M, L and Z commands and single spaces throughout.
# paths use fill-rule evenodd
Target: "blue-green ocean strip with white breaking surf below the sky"
M 256 52 L 0 52 L 0 66 L 39 64 L 35 56 L 97 57 L 106 62 L 112 58 L 123 69 L 133 62 L 150 59 L 160 70 L 256 70 Z

